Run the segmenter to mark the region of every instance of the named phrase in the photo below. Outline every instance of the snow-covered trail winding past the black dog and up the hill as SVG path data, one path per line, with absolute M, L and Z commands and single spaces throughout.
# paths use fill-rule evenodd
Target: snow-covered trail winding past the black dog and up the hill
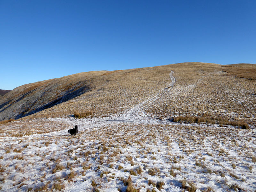
M 44 121 L 55 121 L 55 122 L 65 122 L 68 124 L 77 124 L 78 125 L 78 131 L 86 131 L 89 129 L 100 129 L 102 126 L 110 125 L 110 124 L 119 124 L 120 122 L 127 122 L 127 123 L 150 123 L 150 124 L 157 124 L 157 119 L 154 119 L 152 117 L 147 116 L 147 114 L 143 113 L 143 108 L 146 108 L 149 105 L 152 105 L 156 100 L 163 97 L 165 94 L 167 94 L 173 87 L 173 84 L 175 83 L 175 78 L 172 76 L 174 72 L 171 71 L 170 73 L 170 84 L 163 88 L 161 91 L 159 91 L 155 96 L 149 98 L 146 101 L 143 101 L 139 103 L 138 105 L 132 107 L 131 109 L 126 110 L 123 113 L 118 114 L 117 116 L 108 116 L 108 117 L 98 117 L 98 118 L 82 118 L 82 119 L 75 119 L 73 117 L 68 118 L 48 118 L 48 119 L 42 119 L 42 123 Z M 170 88 L 168 88 L 170 87 Z M 169 121 L 166 123 L 170 123 Z M 57 123 L 58 124 L 58 123 Z M 161 122 L 163 124 L 163 122 Z M 19 138 L 38 138 L 38 137 L 51 137 L 51 136 L 65 136 L 69 135 L 67 133 L 67 130 L 57 131 L 57 132 L 51 132 L 51 133 L 44 133 L 44 134 L 33 134 L 29 136 L 23 136 Z M 16 140 L 17 137 L 2 137 L 0 138 L 0 142 L 4 141 L 6 139 L 10 140 Z

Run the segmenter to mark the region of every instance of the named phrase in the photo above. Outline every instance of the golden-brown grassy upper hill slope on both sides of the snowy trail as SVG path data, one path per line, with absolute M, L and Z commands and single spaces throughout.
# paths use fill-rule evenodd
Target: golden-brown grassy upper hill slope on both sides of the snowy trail
M 232 76 L 235 73 L 241 76 L 244 68 L 248 67 L 250 71 L 255 70 L 253 64 L 221 66 L 180 63 L 130 70 L 84 72 L 26 84 L 1 98 L 0 120 L 17 119 L 34 113 L 42 117 L 70 116 L 85 110 L 93 110 L 97 115 L 117 114 L 166 87 L 170 81 L 169 73 L 173 70 L 176 83 L 172 92 L 175 95 L 179 93 L 179 96 L 170 94 L 161 100 L 161 104 L 156 102 L 152 105 L 154 109 L 149 106 L 148 113 L 159 114 L 161 118 L 209 113 L 211 116 L 220 114 L 229 119 L 242 118 L 253 122 L 255 80 Z M 241 108 L 249 104 L 251 107 L 241 111 Z

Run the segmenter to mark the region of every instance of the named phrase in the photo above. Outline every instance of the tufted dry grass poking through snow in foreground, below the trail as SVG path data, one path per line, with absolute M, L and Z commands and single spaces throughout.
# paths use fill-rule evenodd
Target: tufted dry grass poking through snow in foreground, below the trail
M 66 185 L 68 181 L 70 181 L 68 185 L 73 186 L 73 182 L 75 183 L 77 180 L 87 180 L 90 182 L 89 185 L 92 180 L 94 180 L 94 183 L 92 183 L 94 186 L 90 185 L 90 187 L 92 189 L 98 189 L 99 191 L 117 185 L 120 187 L 121 182 L 119 182 L 118 179 L 123 181 L 123 187 L 121 187 L 122 191 L 125 191 L 126 188 L 130 191 L 137 191 L 141 189 L 143 185 L 145 189 L 148 188 L 150 191 L 152 189 L 155 191 L 163 191 L 167 190 L 170 183 L 172 183 L 174 188 L 181 187 L 181 184 L 177 182 L 180 178 L 187 178 L 187 183 L 183 185 L 181 190 L 188 191 L 194 191 L 197 187 L 201 191 L 210 190 L 210 188 L 207 188 L 209 182 L 216 185 L 218 182 L 224 182 L 226 179 L 230 181 L 229 184 L 235 183 L 236 178 L 240 178 L 241 180 L 246 179 L 251 182 L 254 178 L 253 173 L 255 166 L 252 163 L 252 157 L 255 156 L 255 153 L 248 151 L 248 148 L 250 143 L 255 142 L 255 138 L 252 137 L 253 130 L 248 132 L 247 130 L 241 129 L 237 132 L 236 129 L 230 127 L 223 129 L 218 126 L 204 126 L 204 130 L 199 133 L 198 131 L 201 129 L 202 126 L 200 125 L 187 124 L 159 124 L 159 126 L 156 126 L 151 124 L 136 125 L 120 123 L 118 126 L 109 124 L 86 130 L 80 138 L 63 138 L 63 136 L 53 136 L 53 138 L 33 137 L 23 139 L 22 141 L 19 139 L 17 145 L 5 141 L 2 145 L 5 146 L 2 148 L 4 161 L 11 166 L 2 166 L 3 171 L 1 174 L 10 171 L 13 172 L 15 165 L 17 165 L 17 169 L 15 168 L 13 172 L 15 177 L 18 176 L 18 173 L 23 172 L 27 174 L 30 170 L 35 171 L 38 174 L 39 180 L 42 182 L 41 184 L 51 181 L 50 187 L 47 189 L 48 191 L 51 191 L 53 184 L 62 185 L 65 182 Z M 127 139 L 131 142 L 130 146 L 126 144 Z M 62 140 L 63 142 L 57 142 L 56 144 L 55 140 Z M 39 147 L 45 147 L 47 141 L 50 141 L 49 146 L 53 146 L 55 143 L 56 146 L 54 146 L 54 150 L 56 153 L 49 156 L 50 153 L 48 154 L 48 152 L 46 152 L 46 157 L 44 157 L 43 154 L 39 154 L 39 157 L 42 158 L 46 164 L 43 163 L 38 169 L 37 160 L 33 160 L 35 156 L 28 159 L 26 154 L 29 150 L 24 149 L 24 146 L 29 143 L 27 148 L 35 149 L 35 154 L 37 154 L 42 150 L 42 148 Z M 155 144 L 156 141 L 157 145 Z M 235 142 L 238 142 L 239 145 L 236 146 Z M 82 143 L 84 143 L 84 145 L 82 145 Z M 139 143 L 143 143 L 144 145 L 141 146 Z M 168 143 L 170 143 L 170 145 L 168 145 Z M 221 148 L 225 150 L 220 150 L 220 143 Z M 98 146 L 102 148 L 97 150 Z M 63 149 L 64 147 L 66 149 Z M 103 151 L 104 147 L 108 148 L 105 152 Z M 13 156 L 10 153 L 5 153 L 7 149 L 10 149 L 11 153 L 13 153 L 15 149 L 18 150 L 20 148 L 22 149 L 21 152 L 25 159 L 23 161 L 17 159 L 13 160 Z M 125 150 L 126 152 L 124 152 Z M 226 153 L 230 150 L 235 150 L 240 155 L 234 157 L 228 156 Z M 219 151 L 222 153 L 221 156 L 218 156 Z M 209 156 L 206 155 L 207 152 Z M 86 156 L 85 153 L 87 154 Z M 112 156 L 112 154 L 116 155 Z M 103 155 L 105 157 L 100 160 L 100 156 Z M 169 166 L 170 169 L 161 169 L 158 162 L 152 159 L 153 155 L 156 156 L 156 159 L 161 160 L 162 167 Z M 8 160 L 6 156 L 11 156 L 11 158 Z M 73 161 L 74 156 L 78 158 L 75 162 Z M 173 163 L 174 157 L 177 164 Z M 130 161 L 128 161 L 128 159 Z M 66 160 L 68 160 L 68 162 Z M 28 162 L 25 163 L 25 161 Z M 132 169 L 130 166 L 131 161 L 135 164 Z M 68 165 L 69 162 L 70 165 L 72 164 L 72 168 Z M 198 164 L 200 166 L 196 166 L 195 162 L 200 162 Z M 248 162 L 248 164 L 242 162 Z M 232 163 L 236 165 L 235 170 L 232 169 Z M 22 167 L 22 171 L 20 171 L 19 168 L 21 168 L 22 164 L 25 166 Z M 65 169 L 62 167 L 63 169 L 60 168 L 62 171 L 58 172 L 58 166 L 60 164 L 64 165 Z M 35 166 L 35 168 L 31 165 Z M 69 169 L 66 169 L 66 165 Z M 120 170 L 118 170 L 119 165 Z M 223 169 L 219 172 L 219 166 L 221 165 Z M 55 171 L 52 171 L 54 168 Z M 128 170 L 124 172 L 124 169 Z M 111 173 L 109 171 L 111 171 Z M 236 171 L 239 171 L 239 173 Z M 133 172 L 135 172 L 137 176 L 133 176 Z M 226 176 L 222 174 L 222 172 L 226 173 Z M 230 172 L 233 172 L 235 175 L 231 175 Z M 49 173 L 55 175 L 49 177 Z M 63 178 L 68 173 L 70 173 L 69 176 Z M 74 176 L 75 173 L 77 173 L 76 176 Z M 94 174 L 93 178 L 90 176 L 91 173 Z M 133 182 L 131 184 L 129 184 L 127 179 L 129 173 Z M 195 174 L 196 177 L 190 177 L 191 173 Z M 218 181 L 216 181 L 216 176 L 218 177 L 218 175 L 219 178 Z M 58 176 L 59 178 L 57 178 Z M 6 177 L 6 180 L 9 180 L 8 177 Z M 164 179 L 165 177 L 170 177 L 169 180 L 171 180 L 171 182 Z M 52 180 L 52 178 L 55 179 Z M 16 180 L 16 182 L 20 182 L 18 179 Z M 200 184 L 202 180 L 205 185 Z M 161 181 L 164 181 L 164 183 L 161 183 Z M 62 184 L 60 182 L 62 182 Z M 240 187 L 245 186 L 245 184 L 240 181 L 237 184 Z M 222 187 L 224 190 L 229 190 L 229 186 L 227 185 L 223 184 Z M 24 186 L 21 187 L 21 189 L 22 188 L 24 188 Z M 35 185 L 33 188 L 35 188 Z M 55 191 L 57 191 L 57 186 Z

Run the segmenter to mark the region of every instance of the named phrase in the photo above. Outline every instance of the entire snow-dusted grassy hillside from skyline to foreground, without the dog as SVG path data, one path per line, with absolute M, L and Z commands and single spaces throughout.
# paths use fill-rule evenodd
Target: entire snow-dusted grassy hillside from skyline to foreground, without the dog
M 17 119 L 0 124 L 0 188 L 255 191 L 255 69 L 178 63 L 17 87 L 0 99 L 1 120 Z

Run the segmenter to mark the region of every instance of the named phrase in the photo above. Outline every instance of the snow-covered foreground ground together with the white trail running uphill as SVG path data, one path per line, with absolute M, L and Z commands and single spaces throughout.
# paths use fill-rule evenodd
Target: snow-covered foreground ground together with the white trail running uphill
M 34 119 L 26 121 L 31 131 L 50 131 L 2 134 L 1 191 L 255 191 L 255 128 L 173 123 L 145 113 L 170 94 L 172 73 L 170 88 L 124 113 Z M 5 128 L 15 124 L 22 128 L 22 121 Z M 75 124 L 79 133 L 71 136 Z

